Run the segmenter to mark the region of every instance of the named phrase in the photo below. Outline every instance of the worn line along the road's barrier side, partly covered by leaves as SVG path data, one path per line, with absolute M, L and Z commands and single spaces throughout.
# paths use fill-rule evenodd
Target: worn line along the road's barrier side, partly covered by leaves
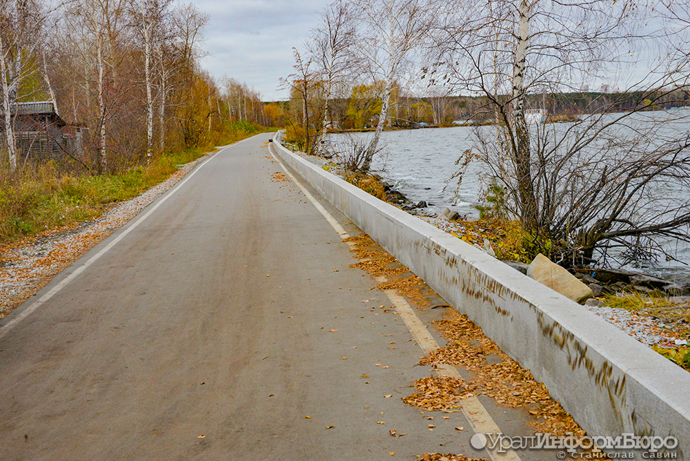
M 277 157 L 277 155 L 275 155 L 275 153 L 271 152 L 271 155 L 273 155 L 273 158 L 275 158 L 280 164 L 280 167 L 283 169 L 285 174 L 288 175 L 288 177 L 290 177 L 295 184 L 297 184 L 297 187 L 299 187 L 300 190 L 302 190 L 309 202 L 311 202 L 316 209 L 319 210 L 319 213 L 326 218 L 326 221 L 331 224 L 335 232 L 337 232 L 342 239 L 348 238 L 348 233 L 346 233 L 345 229 L 339 224 L 339 222 L 337 222 L 335 218 L 331 216 L 331 213 L 328 213 L 326 208 L 319 204 L 314 196 L 311 195 L 311 193 L 309 193 L 304 186 L 302 186 L 302 183 L 300 183 L 297 178 L 295 178 L 295 176 L 288 171 L 286 166 Z M 353 242 L 345 243 L 353 248 Z M 382 283 L 387 281 L 388 280 L 386 277 L 377 277 L 377 282 Z M 417 344 L 420 346 L 422 351 L 424 351 L 424 353 L 430 353 L 440 349 L 436 340 L 433 339 L 431 333 L 429 333 L 426 326 L 424 326 L 422 323 L 422 320 L 420 320 L 420 317 L 417 316 L 417 313 L 415 313 L 412 306 L 408 304 L 405 298 L 398 295 L 395 290 L 384 290 L 383 292 L 386 293 L 388 299 L 395 304 L 395 308 L 397 309 L 398 313 L 400 313 L 400 317 L 402 317 L 402 320 L 405 322 L 407 328 L 410 329 L 410 333 L 412 333 L 412 335 L 415 337 L 415 341 L 417 341 Z M 462 377 L 460 377 L 460 373 L 457 372 L 457 369 L 453 365 L 440 365 L 437 367 L 437 371 L 438 374 L 443 376 L 462 379 Z M 480 402 L 476 397 L 470 397 L 462 400 L 462 413 L 471 424 L 475 433 L 502 433 L 501 429 L 495 423 L 493 418 L 491 418 L 491 415 L 489 415 L 489 412 L 486 411 L 486 408 L 484 408 L 484 405 L 482 405 L 482 402 Z M 497 449 L 500 449 L 500 447 L 495 447 L 494 450 L 489 450 L 488 447 L 486 448 L 486 453 L 489 453 L 489 456 L 493 461 L 520 461 L 520 457 L 517 455 L 517 453 L 515 453 L 515 451 L 506 450 L 504 453 L 498 453 Z

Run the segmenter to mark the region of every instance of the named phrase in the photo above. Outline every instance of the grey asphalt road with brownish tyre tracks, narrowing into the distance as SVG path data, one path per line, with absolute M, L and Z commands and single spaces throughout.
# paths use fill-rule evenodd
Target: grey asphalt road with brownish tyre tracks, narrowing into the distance
M 462 413 L 443 420 L 400 400 L 431 373 L 416 366 L 422 351 L 378 309 L 390 301 L 350 267 L 331 225 L 276 175 L 268 137 L 210 157 L 0 338 L 0 460 L 486 455 L 469 447 Z

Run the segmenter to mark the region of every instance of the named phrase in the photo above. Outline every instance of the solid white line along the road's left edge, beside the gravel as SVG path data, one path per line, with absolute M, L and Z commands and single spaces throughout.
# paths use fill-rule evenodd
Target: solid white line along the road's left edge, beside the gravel
M 230 146 L 228 146 L 228 147 L 230 147 Z M 226 147 L 226 148 L 228 148 L 228 147 Z M 33 304 L 31 304 L 31 305 L 28 306 L 27 308 L 23 309 L 21 312 L 19 312 L 19 314 L 18 314 L 16 317 L 12 318 L 12 320 L 10 320 L 9 322 L 7 322 L 7 323 L 4 324 L 3 326 L 1 326 L 1 327 L 0 327 L 0 338 L 2 338 L 2 337 L 5 336 L 7 333 L 9 333 L 9 331 L 12 330 L 12 328 L 14 328 L 15 326 L 17 326 L 17 325 L 19 324 L 19 322 L 21 322 L 21 321 L 24 320 L 26 317 L 28 317 L 29 315 L 31 315 L 32 312 L 36 311 L 37 308 L 39 308 L 39 307 L 41 307 L 43 304 L 45 304 L 48 300 L 50 300 L 51 297 L 57 295 L 57 293 L 59 293 L 59 291 L 60 291 L 62 288 L 65 288 L 70 282 L 72 282 L 72 280 L 74 280 L 75 278 L 79 277 L 79 275 L 80 275 L 81 273 L 83 273 L 83 271 L 86 271 L 86 269 L 88 269 L 92 264 L 94 264 L 95 262 L 97 262 L 97 260 L 100 259 L 101 256 L 103 256 L 103 255 L 105 255 L 106 253 L 108 253 L 108 251 L 110 251 L 110 248 L 112 248 L 113 246 L 117 245 L 118 242 L 120 242 L 121 239 L 124 239 L 124 237 L 126 237 L 126 235 L 128 235 L 128 233 L 132 232 L 132 230 L 135 230 L 135 228 L 137 228 L 137 226 L 139 226 L 139 224 L 141 224 L 142 222 L 144 222 L 144 219 L 146 219 L 147 217 L 149 217 L 149 216 L 151 215 L 151 213 L 153 213 L 155 210 L 157 210 L 159 206 L 161 206 L 162 204 L 164 204 L 164 202 L 165 202 L 168 198 L 170 198 L 172 195 L 174 195 L 174 194 L 177 192 L 177 190 L 179 190 L 179 188 L 181 188 L 182 186 L 184 186 L 184 184 L 185 184 L 186 182 L 188 182 L 195 174 L 197 174 L 197 171 L 201 170 L 201 168 L 204 168 L 204 166 L 205 166 L 211 159 L 213 159 L 213 157 L 215 157 L 217 154 L 223 152 L 223 150 L 225 150 L 226 148 L 223 148 L 223 149 L 219 150 L 217 153 L 211 155 L 208 159 L 206 159 L 201 165 L 197 166 L 197 168 L 195 168 L 195 169 L 192 171 L 192 173 L 189 173 L 181 182 L 179 182 L 179 183 L 177 184 L 177 186 L 175 186 L 174 188 L 172 188 L 171 190 L 169 190 L 168 193 L 166 193 L 166 195 L 164 195 L 164 197 L 161 198 L 157 204 L 155 204 L 154 206 L 152 206 L 152 208 L 151 208 L 150 210 L 148 210 L 146 213 L 144 213 L 144 215 L 142 215 L 141 217 L 139 217 L 139 219 L 137 219 L 137 220 L 134 222 L 134 224 L 132 224 L 131 226 L 129 226 L 128 228 L 126 228 L 126 229 L 124 230 L 124 232 L 122 232 L 120 235 L 118 235 L 117 237 L 115 237 L 115 239 L 112 239 L 112 241 L 111 241 L 108 245 L 106 245 L 106 246 L 104 246 L 103 248 L 101 248 L 101 251 L 99 251 L 98 253 L 96 253 L 96 254 L 93 255 L 92 257 L 90 257 L 90 258 L 88 259 L 87 262 L 85 262 L 84 264 L 82 264 L 81 266 L 79 266 L 78 268 L 76 268 L 74 272 L 72 272 L 70 275 L 68 275 L 68 276 L 65 277 L 64 279 L 62 279 L 61 282 L 59 282 L 59 284 L 53 286 L 53 287 L 50 289 L 50 291 L 48 291 L 48 293 L 46 293 L 45 295 L 39 297 L 39 299 L 38 299 L 36 302 L 34 302 Z

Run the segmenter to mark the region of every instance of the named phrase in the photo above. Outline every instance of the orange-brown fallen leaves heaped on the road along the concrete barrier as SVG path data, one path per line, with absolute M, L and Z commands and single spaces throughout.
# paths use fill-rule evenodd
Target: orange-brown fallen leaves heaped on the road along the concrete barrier
M 350 237 L 355 242 L 353 253 L 363 261 L 354 264 L 374 277 L 388 277 L 390 282 L 380 284 L 384 290 L 394 289 L 417 306 L 428 304 L 428 295 L 434 294 L 424 280 L 411 275 L 408 268 L 397 262 L 368 235 Z M 391 277 L 392 276 L 392 277 Z M 426 377 L 415 382 L 417 392 L 403 400 L 429 411 L 457 408 L 460 400 L 475 394 L 488 395 L 499 404 L 511 408 L 524 408 L 535 416 L 535 431 L 553 435 L 577 436 L 584 431 L 549 395 L 544 384 L 537 382 L 532 373 L 503 353 L 481 328 L 465 315 L 447 308 L 444 319 L 434 326 L 448 340 L 445 347 L 424 357 L 420 364 L 451 364 L 471 371 L 470 382 L 452 377 Z M 487 360 L 489 358 L 489 360 Z

